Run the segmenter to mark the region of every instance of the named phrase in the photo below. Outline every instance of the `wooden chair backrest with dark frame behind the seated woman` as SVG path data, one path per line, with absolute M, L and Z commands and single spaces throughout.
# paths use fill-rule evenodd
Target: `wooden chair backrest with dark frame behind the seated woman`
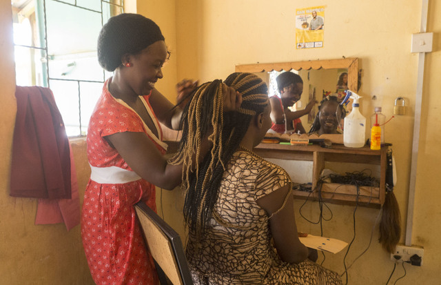
M 161 285 L 168 284 L 165 275 L 174 285 L 192 285 L 192 277 L 178 233 L 143 202 L 136 204 L 135 210 L 155 261 Z

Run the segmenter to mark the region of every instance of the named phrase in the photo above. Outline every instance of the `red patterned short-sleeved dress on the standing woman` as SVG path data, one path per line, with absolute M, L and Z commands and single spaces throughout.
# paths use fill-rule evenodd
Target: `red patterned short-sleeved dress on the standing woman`
M 81 236 L 90 273 L 96 284 L 158 284 L 133 205 L 145 202 L 156 211 L 155 186 L 141 179 L 104 137 L 116 132 L 145 132 L 161 153 L 167 145 L 149 104 L 143 103 L 159 138 L 139 115 L 107 90 L 107 80 L 88 129 L 87 149 L 92 174 L 85 190 Z

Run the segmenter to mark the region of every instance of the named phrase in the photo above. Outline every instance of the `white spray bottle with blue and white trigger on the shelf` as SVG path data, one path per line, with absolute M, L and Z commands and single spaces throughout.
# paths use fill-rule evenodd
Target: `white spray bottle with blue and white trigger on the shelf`
M 352 111 L 345 117 L 345 127 L 343 129 L 343 144 L 347 148 L 362 148 L 366 141 L 366 118 L 361 115 L 358 100 L 361 98 L 355 92 L 347 90 L 347 95 L 342 104 L 347 99 L 352 98 Z

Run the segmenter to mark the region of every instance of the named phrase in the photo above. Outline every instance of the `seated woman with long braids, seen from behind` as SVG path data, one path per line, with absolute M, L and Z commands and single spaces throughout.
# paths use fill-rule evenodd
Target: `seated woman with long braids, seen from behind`
M 250 73 L 233 73 L 225 84 L 242 95 L 238 111 L 223 116 L 222 81 L 200 86 L 183 112 L 172 158 L 184 165 L 194 283 L 341 284 L 337 273 L 308 259 L 316 252 L 298 239 L 289 175 L 252 152 L 271 126 L 266 84 Z M 211 151 L 192 171 L 190 153 L 207 132 Z

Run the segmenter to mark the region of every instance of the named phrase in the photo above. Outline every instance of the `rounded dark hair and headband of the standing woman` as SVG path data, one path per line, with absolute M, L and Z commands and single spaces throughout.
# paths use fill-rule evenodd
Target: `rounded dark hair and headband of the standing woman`
M 161 29 L 140 14 L 123 13 L 111 17 L 98 37 L 98 61 L 107 71 L 121 65 L 125 54 L 135 55 L 156 41 L 163 41 Z

